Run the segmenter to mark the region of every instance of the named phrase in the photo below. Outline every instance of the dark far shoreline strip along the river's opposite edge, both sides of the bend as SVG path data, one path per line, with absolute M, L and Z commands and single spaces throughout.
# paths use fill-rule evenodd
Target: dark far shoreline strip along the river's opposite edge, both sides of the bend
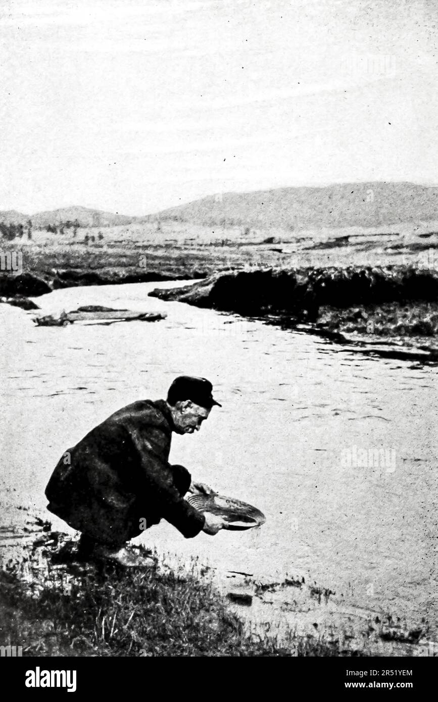
M 199 270 L 172 256 L 164 267 L 157 259 L 148 270 L 132 265 L 132 260 L 107 265 L 120 264 L 119 254 L 113 261 L 100 262 L 100 267 L 89 261 L 88 267 L 42 270 L 35 260 L 31 272 L 0 274 L 0 303 L 35 310 L 39 308 L 35 298 L 57 289 L 196 281 L 170 291 L 152 291 L 150 296 L 319 334 L 364 352 L 374 349 L 382 356 L 432 363 L 438 359 L 438 272 L 434 268 L 412 263 L 297 268 L 253 262 L 242 266 L 238 260 L 237 266 L 219 266 L 212 272 L 218 262 L 208 253 Z M 78 265 L 78 260 L 72 263 Z

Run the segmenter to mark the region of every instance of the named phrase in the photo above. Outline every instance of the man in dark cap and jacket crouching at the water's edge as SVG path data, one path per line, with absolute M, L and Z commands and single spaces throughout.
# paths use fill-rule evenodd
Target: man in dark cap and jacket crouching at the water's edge
M 124 547 L 160 519 L 185 538 L 223 528 L 223 519 L 201 514 L 183 497 L 211 489 L 192 483 L 182 465 L 168 463 L 172 432 L 198 431 L 213 405 L 221 406 L 212 390 L 206 378 L 180 376 L 167 400 L 133 402 L 65 451 L 46 487 L 47 506 L 82 532 L 79 557 L 146 564 Z

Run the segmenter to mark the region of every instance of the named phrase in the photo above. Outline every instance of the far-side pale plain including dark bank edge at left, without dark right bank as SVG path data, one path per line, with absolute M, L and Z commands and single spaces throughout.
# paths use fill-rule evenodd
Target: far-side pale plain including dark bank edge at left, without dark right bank
M 4 256 L 20 256 L 20 274 L 15 271 L 8 277 L 2 259 L 0 296 L 35 296 L 78 285 L 202 279 L 248 267 L 305 270 L 404 265 L 437 270 L 437 230 L 434 222 L 400 223 L 385 230 L 343 227 L 291 232 L 276 227 L 212 229 L 172 220 L 86 227 L 77 234 L 71 229 L 58 235 L 35 230 L 31 240 L 1 242 Z

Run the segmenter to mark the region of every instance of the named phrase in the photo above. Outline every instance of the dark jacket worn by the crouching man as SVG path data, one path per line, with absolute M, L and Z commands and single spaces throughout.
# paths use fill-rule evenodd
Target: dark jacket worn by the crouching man
M 48 510 L 109 545 L 161 518 L 197 536 L 205 519 L 183 499 L 190 473 L 168 463 L 173 429 L 164 400 L 119 409 L 60 458 L 46 487 Z

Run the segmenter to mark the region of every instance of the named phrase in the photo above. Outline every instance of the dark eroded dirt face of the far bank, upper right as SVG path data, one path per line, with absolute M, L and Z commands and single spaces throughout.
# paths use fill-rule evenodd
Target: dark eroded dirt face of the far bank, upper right
M 190 288 L 153 291 L 151 295 L 239 314 L 307 313 L 307 317 L 317 319 L 321 305 L 345 309 L 351 305 L 435 302 L 438 274 L 404 266 L 270 268 L 215 274 Z

